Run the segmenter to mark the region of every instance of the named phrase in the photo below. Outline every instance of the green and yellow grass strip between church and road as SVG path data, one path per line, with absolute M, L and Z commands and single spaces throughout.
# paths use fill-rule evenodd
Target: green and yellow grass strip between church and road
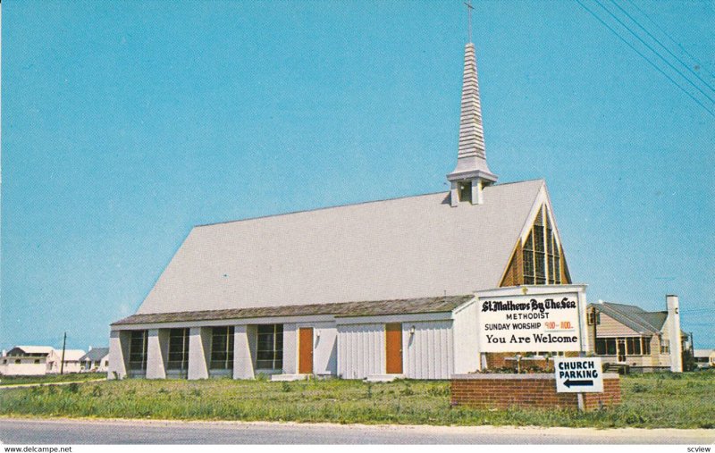
M 125 380 L 0 390 L 1 415 L 362 424 L 715 428 L 715 373 L 622 379 L 623 404 L 572 410 L 450 407 L 449 382 Z

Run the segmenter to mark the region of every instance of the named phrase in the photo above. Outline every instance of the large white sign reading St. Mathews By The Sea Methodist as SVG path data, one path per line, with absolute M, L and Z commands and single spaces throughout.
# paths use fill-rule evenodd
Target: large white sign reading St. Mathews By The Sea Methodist
M 576 292 L 479 298 L 482 352 L 579 351 Z

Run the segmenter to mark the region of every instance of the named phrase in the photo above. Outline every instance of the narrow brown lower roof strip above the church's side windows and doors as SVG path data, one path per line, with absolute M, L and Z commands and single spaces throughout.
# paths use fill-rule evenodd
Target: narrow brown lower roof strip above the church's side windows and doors
M 213 321 L 277 316 L 334 315 L 335 317 L 408 315 L 450 312 L 473 299 L 473 294 L 440 298 L 410 298 L 347 302 L 341 304 L 312 304 L 303 306 L 257 306 L 226 310 L 193 312 L 150 313 L 128 316 L 112 325 L 142 323 L 179 323 L 188 321 Z

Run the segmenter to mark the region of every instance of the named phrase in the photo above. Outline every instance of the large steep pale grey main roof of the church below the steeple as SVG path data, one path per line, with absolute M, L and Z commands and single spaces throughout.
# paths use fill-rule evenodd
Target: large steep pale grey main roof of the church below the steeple
M 459 295 L 499 286 L 543 180 L 195 227 L 137 314 Z M 544 195 L 539 198 L 540 194 Z

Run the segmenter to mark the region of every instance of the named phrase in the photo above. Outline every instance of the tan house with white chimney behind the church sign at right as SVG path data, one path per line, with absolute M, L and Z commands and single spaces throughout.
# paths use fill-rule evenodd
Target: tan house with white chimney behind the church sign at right
M 589 344 L 604 364 L 634 371 L 683 371 L 687 335 L 680 330 L 677 296 L 666 297 L 667 310 L 646 312 L 639 306 L 589 304 Z M 673 334 L 677 332 L 677 334 Z M 595 338 L 595 341 L 593 340 Z

